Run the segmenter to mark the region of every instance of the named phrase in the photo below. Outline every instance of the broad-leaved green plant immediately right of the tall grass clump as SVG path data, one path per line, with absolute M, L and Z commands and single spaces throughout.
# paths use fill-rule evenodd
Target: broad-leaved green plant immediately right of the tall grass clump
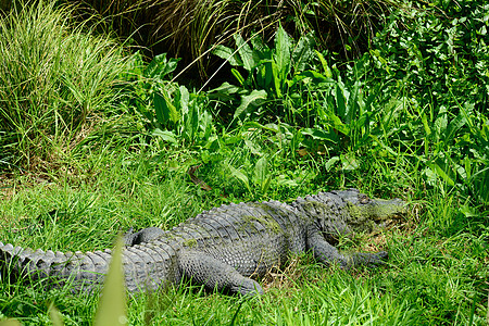
M 213 133 L 212 115 L 205 110 L 205 97 L 190 93 L 187 87 L 166 80 L 176 70 L 177 59 L 156 55 L 149 64 L 134 57 L 133 80 L 126 89 L 127 101 L 149 122 L 153 136 L 178 143 L 205 145 Z M 136 95 L 136 99 L 131 98 Z

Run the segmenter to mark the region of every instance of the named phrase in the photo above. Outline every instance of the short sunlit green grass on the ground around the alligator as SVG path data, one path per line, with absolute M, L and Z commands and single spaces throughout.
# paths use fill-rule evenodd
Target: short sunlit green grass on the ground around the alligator
M 237 151 L 237 156 L 247 152 Z M 16 184 L 15 191 L 11 189 L 10 196 L 4 197 L 0 212 L 10 221 L 20 221 L 21 225 L 3 228 L 2 241 L 63 251 L 101 249 L 111 247 L 118 230 L 130 226 L 171 228 L 226 202 L 221 198 L 223 195 L 231 193 L 236 200 L 252 198 L 238 179 L 228 179 L 225 165 L 216 163 L 199 172 L 199 177 L 213 188 L 210 192 L 201 190 L 190 183 L 185 170 L 173 170 L 178 164 L 185 165 L 191 156 L 176 158 L 175 154 L 176 151 L 147 156 L 121 153 L 110 160 L 111 168 L 80 185 L 76 176 L 51 186 L 23 188 L 24 183 Z M 173 161 L 168 160 L 171 158 Z M 348 176 L 343 177 L 347 177 L 347 187 L 358 186 L 348 180 Z M 369 189 L 383 189 L 386 181 L 380 175 L 368 180 L 372 181 L 367 186 Z M 224 188 L 220 188 L 220 184 L 225 185 Z M 419 184 L 411 186 L 419 187 Z M 297 196 L 315 192 L 306 187 L 294 191 Z M 443 321 L 466 324 L 471 318 L 474 325 L 484 325 L 488 234 L 440 234 L 439 230 L 447 229 L 443 221 L 453 221 L 457 212 L 451 208 L 450 200 L 437 200 L 431 192 L 423 198 L 421 195 L 415 195 L 418 199 L 411 199 L 411 204 L 417 209 L 386 231 L 385 240 L 378 238 L 379 242 L 372 243 L 389 251 L 389 263 L 385 267 L 343 272 L 324 267 L 306 255 L 292 262 L 291 269 L 285 268 L 262 280 L 266 288 L 263 298 L 241 304 L 237 297 L 184 286 L 162 293 L 130 297 L 129 323 L 229 325 L 237 312 L 235 325 L 413 325 Z M 290 196 L 272 192 L 274 199 Z M 58 212 L 54 215 L 46 213 L 53 209 Z M 34 229 L 29 229 L 30 225 Z M 363 248 L 369 241 L 374 240 L 359 238 L 344 242 L 342 249 Z M 88 323 L 97 309 L 96 298 L 75 298 L 68 289 L 45 292 L 22 285 L 3 284 L 2 287 L 2 313 L 26 324 L 48 325 L 48 302 L 60 310 L 65 325 L 73 325 L 75 321 Z

